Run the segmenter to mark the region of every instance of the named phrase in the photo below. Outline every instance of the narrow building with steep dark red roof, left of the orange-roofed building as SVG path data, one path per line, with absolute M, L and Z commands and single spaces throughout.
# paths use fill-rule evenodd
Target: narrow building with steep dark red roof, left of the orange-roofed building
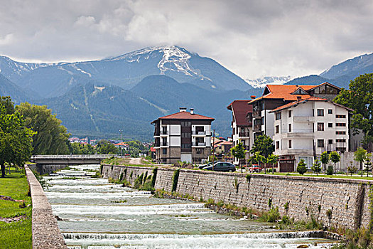
M 246 150 L 246 157 L 241 161 L 241 164 L 246 164 L 250 157 L 249 150 L 253 144 L 253 129 L 252 129 L 252 105 L 249 105 L 250 100 L 234 100 L 227 106 L 227 109 L 232 111 L 232 146 L 236 146 L 242 142 Z M 234 158 L 234 164 L 238 164 L 239 160 Z

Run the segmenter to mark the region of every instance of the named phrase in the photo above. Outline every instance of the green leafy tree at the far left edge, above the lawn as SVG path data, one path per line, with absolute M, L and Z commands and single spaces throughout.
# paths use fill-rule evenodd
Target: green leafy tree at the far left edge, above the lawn
M 31 156 L 35 132 L 25 126 L 23 117 L 11 108 L 10 97 L 0 98 L 0 167 L 5 177 L 5 164 L 23 166 Z

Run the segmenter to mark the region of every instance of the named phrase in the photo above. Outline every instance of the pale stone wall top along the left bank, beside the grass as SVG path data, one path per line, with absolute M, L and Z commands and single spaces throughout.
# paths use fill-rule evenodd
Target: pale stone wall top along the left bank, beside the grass
M 33 202 L 33 249 L 67 249 L 43 188 L 33 175 L 31 169 L 28 169 L 28 166 L 25 167 L 28 184 L 31 189 L 31 200 Z

